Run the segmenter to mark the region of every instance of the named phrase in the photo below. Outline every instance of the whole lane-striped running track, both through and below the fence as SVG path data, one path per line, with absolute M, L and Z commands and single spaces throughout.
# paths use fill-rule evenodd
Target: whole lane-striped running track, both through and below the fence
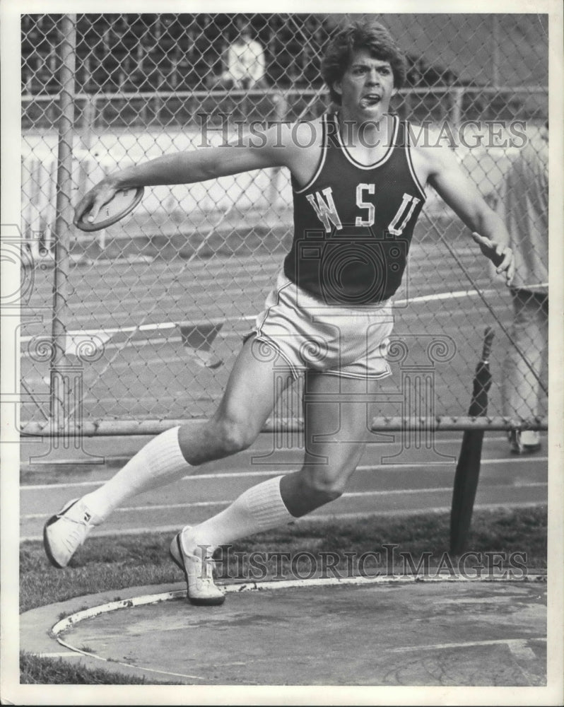
M 510 298 L 500 282 L 493 282 L 486 261 L 466 241 L 457 255 L 495 308 L 505 327 L 510 325 Z M 214 257 L 204 261 L 147 263 L 99 262 L 71 269 L 68 329 L 71 331 L 112 330 L 105 355 L 90 364 L 83 374 L 86 416 L 155 417 L 207 416 L 221 395 L 249 321 L 259 312 L 264 297 L 276 281 L 281 257 Z M 507 341 L 493 315 L 471 291 L 469 281 L 445 247 L 437 243 L 415 243 L 411 249 L 407 286 L 396 296 L 396 333 L 451 337 L 456 355 L 437 369 L 435 414 L 464 414 L 469 404 L 471 377 L 481 350 L 483 328 L 496 329 L 492 356 L 494 385 L 490 412 L 500 414 L 498 383 L 500 361 Z M 41 321 L 25 325 L 24 337 L 49 331 L 51 274 L 36 271 L 30 310 Z M 47 306 L 46 306 L 47 305 Z M 213 343 L 214 353 L 225 366 L 211 371 L 195 366 L 182 346 L 180 332 L 172 322 L 222 323 Z M 168 326 L 116 334 L 115 329 L 135 325 Z M 125 345 L 124 345 L 125 344 Z M 23 342 L 22 373 L 31 390 L 47 391 L 48 363 L 30 358 Z M 111 366 L 107 361 L 112 359 Z M 107 370 L 105 370 L 107 368 Z M 382 390 L 393 393 L 397 376 L 384 380 Z M 395 379 L 395 380 L 394 380 Z M 187 395 L 189 392 L 189 395 Z M 42 419 L 33 406 L 24 407 L 34 419 Z M 385 411 L 382 414 L 396 414 Z M 23 419 L 26 419 L 23 414 Z M 29 417 L 29 415 L 28 415 Z M 348 517 L 365 513 L 409 513 L 424 509 L 448 509 L 452 496 L 454 467 L 461 434 L 441 433 L 434 449 L 401 452 L 399 435 L 380 436 L 370 445 L 353 475 L 343 498 L 315 513 Z M 146 438 L 86 440 L 95 455 L 131 456 Z M 208 464 L 197 473 L 165 489 L 134 498 L 117 511 L 104 532 L 141 532 L 148 529 L 174 530 L 187 522 L 198 522 L 224 508 L 242 490 L 274 474 L 295 469 L 300 450 L 289 445 L 272 451 L 272 438 L 261 436 L 252 450 L 230 460 Z M 546 443 L 544 445 L 546 450 Z M 21 537 L 39 538 L 46 518 L 69 498 L 81 496 L 110 477 L 119 462 L 88 466 L 84 453 L 76 450 L 52 452 L 45 464 L 28 464 L 30 455 L 45 452 L 45 445 L 26 445 L 21 489 Z M 401 452 L 401 453 L 399 453 Z M 486 434 L 481 479 L 476 505 L 512 506 L 546 503 L 546 452 L 535 457 L 510 457 L 500 433 Z M 393 457 L 389 459 L 386 457 Z M 53 467 L 54 457 L 66 457 L 73 464 Z M 82 457 L 82 458 L 81 458 Z M 257 458 L 259 457 L 259 458 Z M 37 460 L 36 460 L 37 461 Z M 399 463 L 392 463 L 399 462 Z M 102 531 L 99 531 L 102 532 Z

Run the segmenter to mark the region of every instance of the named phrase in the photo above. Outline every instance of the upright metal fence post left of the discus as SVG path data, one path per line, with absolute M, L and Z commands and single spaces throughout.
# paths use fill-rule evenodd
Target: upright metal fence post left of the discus
M 74 129 L 74 78 L 76 68 L 76 15 L 63 15 L 61 32 L 61 81 L 59 148 L 57 157 L 57 218 L 54 233 L 52 358 L 50 414 L 54 426 L 64 423 L 69 378 L 66 368 L 66 317 L 69 299 L 69 249 L 72 228 L 72 146 Z

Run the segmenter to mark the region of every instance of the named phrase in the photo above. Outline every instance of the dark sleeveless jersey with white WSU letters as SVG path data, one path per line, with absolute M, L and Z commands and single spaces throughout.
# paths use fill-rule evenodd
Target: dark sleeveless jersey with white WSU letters
M 392 140 L 372 165 L 346 148 L 336 115 L 322 117 L 322 156 L 310 183 L 293 180 L 294 237 L 284 274 L 327 303 L 381 302 L 401 284 L 425 192 L 406 123 L 394 116 Z

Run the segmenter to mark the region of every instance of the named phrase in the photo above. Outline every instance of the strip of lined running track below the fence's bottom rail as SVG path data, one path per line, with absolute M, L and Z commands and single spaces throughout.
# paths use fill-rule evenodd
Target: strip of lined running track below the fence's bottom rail
M 398 436 L 399 438 L 399 436 Z M 320 508 L 311 518 L 351 518 L 367 514 L 403 515 L 423 510 L 450 510 L 455 461 L 461 435 L 440 433 L 434 450 L 404 450 L 401 445 L 383 439 L 370 445 L 349 481 L 342 498 Z M 127 451 L 122 460 L 146 442 L 144 438 L 129 440 L 86 440 L 90 453 L 105 453 L 111 447 Z M 299 443 L 298 443 L 299 445 Z M 118 460 L 111 465 L 95 467 L 85 464 L 80 455 L 76 464 L 54 467 L 51 464 L 29 464 L 29 454 L 39 455 L 44 445 L 25 446 L 24 485 L 20 489 L 20 532 L 22 539 L 40 539 L 42 525 L 70 498 L 82 496 L 117 471 Z M 546 450 L 546 438 L 544 438 Z M 510 456 L 507 442 L 500 433 L 486 434 L 476 508 L 530 506 L 547 502 L 546 452 L 527 457 Z M 53 457 L 69 458 L 59 450 Z M 78 455 L 75 455 L 78 457 Z M 454 457 L 454 458 L 453 458 Z M 44 462 L 47 460 L 43 460 Z M 176 531 L 182 525 L 200 522 L 233 501 L 242 491 L 259 481 L 298 467 L 300 451 L 272 449 L 272 438 L 262 435 L 251 450 L 230 460 L 206 464 L 192 476 L 162 489 L 132 498 L 105 523 L 107 534 L 136 533 L 147 530 Z M 393 462 L 396 463 L 393 463 Z M 27 462 L 27 463 L 25 463 Z M 45 469 L 45 471 L 42 471 Z

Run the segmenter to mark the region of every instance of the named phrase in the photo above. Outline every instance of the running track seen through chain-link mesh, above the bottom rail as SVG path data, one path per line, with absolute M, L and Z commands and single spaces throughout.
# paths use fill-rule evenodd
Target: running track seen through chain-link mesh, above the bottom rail
M 408 343 L 414 340 L 409 337 L 446 337 L 453 342 L 454 358 L 437 367 L 435 414 L 465 414 L 484 327 L 491 324 L 496 331 L 492 367 L 498 378 L 507 339 L 444 247 L 424 243 L 414 244 L 411 250 L 407 286 L 396 296 L 394 334 L 407 337 Z M 458 255 L 495 316 L 508 327 L 510 297 L 503 283 L 490 278 L 487 262 L 468 243 L 458 249 Z M 83 370 L 86 418 L 211 414 L 241 337 L 262 309 L 280 264 L 280 256 L 254 255 L 189 263 L 180 259 L 152 264 L 107 262 L 71 269 L 69 331 L 105 332 L 108 339 L 102 358 Z M 30 310 L 43 321 L 23 327 L 22 373 L 37 399 L 48 392 L 49 362 L 32 358 L 27 348 L 32 346 L 30 339 L 49 332 L 51 287 L 50 273 L 37 271 Z M 213 341 L 213 354 L 225 366 L 217 370 L 197 366 L 182 346 L 177 322 L 223 325 Z M 133 332 L 139 325 L 150 328 Z M 394 390 L 398 380 L 394 375 L 384 381 L 384 390 Z M 496 385 L 490 413 L 500 414 Z M 398 413 L 389 409 L 382 414 Z M 44 417 L 27 404 L 22 419 Z

